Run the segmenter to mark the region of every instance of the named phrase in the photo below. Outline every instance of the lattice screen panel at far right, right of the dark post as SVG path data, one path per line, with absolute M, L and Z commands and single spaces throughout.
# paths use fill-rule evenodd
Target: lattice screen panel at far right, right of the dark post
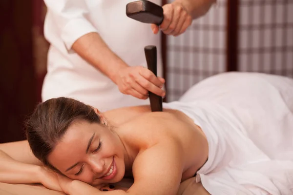
M 293 0 L 239 1 L 239 71 L 293 77 Z

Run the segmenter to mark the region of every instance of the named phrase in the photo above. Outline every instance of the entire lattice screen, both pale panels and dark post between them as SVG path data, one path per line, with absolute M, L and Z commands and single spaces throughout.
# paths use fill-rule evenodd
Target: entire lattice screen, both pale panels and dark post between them
M 293 0 L 218 0 L 166 48 L 167 101 L 230 70 L 293 77 Z

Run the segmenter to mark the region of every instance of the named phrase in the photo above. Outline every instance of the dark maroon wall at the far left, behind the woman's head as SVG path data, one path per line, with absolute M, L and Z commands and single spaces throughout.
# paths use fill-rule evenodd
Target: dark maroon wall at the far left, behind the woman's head
M 33 21 L 33 0 L 0 0 L 0 143 L 24 139 L 38 102 Z

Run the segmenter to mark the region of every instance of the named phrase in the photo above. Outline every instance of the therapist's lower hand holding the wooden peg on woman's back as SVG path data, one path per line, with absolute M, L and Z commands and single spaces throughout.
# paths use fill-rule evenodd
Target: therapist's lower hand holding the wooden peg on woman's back
M 165 97 L 166 92 L 162 89 L 164 78 L 157 78 L 150 70 L 142 66 L 127 66 L 121 68 L 114 79 L 119 90 L 123 94 L 135 98 L 148 98 L 148 91 Z

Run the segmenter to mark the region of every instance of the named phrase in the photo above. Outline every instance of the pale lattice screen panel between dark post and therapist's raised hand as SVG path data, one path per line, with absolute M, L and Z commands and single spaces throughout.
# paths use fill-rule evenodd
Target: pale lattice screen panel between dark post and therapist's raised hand
M 218 0 L 183 35 L 167 36 L 167 101 L 177 100 L 203 78 L 226 71 L 226 7 L 226 0 Z

